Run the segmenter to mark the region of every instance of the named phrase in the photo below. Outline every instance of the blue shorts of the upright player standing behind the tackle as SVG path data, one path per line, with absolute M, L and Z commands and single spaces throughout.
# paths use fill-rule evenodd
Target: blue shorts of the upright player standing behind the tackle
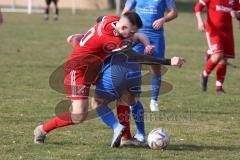
M 165 39 L 164 34 L 152 34 L 149 32 L 143 32 L 147 35 L 150 40 L 151 45 L 154 45 L 154 52 L 152 54 L 153 57 L 156 58 L 165 58 Z M 133 50 L 144 54 L 144 45 L 142 43 L 137 44 Z

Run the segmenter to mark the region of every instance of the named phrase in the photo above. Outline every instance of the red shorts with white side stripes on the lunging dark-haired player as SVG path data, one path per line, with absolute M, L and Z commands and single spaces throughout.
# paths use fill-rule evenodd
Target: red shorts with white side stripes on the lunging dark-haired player
M 95 61 L 96 60 L 96 61 Z M 92 55 L 69 56 L 65 63 L 65 93 L 68 99 L 87 99 L 90 87 L 101 71 L 102 62 Z

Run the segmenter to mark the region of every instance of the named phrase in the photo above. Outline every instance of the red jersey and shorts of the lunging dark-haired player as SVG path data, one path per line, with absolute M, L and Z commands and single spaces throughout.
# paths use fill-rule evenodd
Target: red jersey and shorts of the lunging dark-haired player
M 116 30 L 117 16 L 105 16 L 92 27 L 65 62 L 65 91 L 70 99 L 87 98 L 89 89 L 112 50 L 121 47 L 123 38 Z M 124 45 L 124 44 L 123 44 Z

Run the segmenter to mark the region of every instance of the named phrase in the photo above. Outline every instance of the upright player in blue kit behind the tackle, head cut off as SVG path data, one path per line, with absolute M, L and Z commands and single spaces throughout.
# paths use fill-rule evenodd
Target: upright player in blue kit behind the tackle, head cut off
M 143 21 L 143 27 L 139 32 L 145 33 L 155 51 L 151 54 L 157 58 L 165 57 L 165 40 L 163 25 L 177 17 L 176 4 L 174 0 L 127 0 L 123 14 L 135 9 Z M 164 15 L 167 10 L 167 14 Z M 144 46 L 138 44 L 134 50 L 144 53 Z M 152 65 L 152 95 L 150 102 L 151 111 L 159 111 L 158 96 L 161 87 L 161 66 Z

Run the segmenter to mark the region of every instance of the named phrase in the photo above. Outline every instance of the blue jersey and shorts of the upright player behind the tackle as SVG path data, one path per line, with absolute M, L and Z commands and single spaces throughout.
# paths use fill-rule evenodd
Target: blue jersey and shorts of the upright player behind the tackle
M 127 0 L 125 7 L 135 9 L 143 21 L 143 27 L 139 32 L 145 33 L 150 40 L 150 43 L 155 46 L 152 56 L 158 58 L 165 57 L 165 38 L 163 27 L 159 30 L 154 30 L 152 25 L 157 19 L 164 17 L 166 9 L 175 9 L 174 0 Z M 144 45 L 138 44 L 133 49 L 140 53 L 144 53 Z

